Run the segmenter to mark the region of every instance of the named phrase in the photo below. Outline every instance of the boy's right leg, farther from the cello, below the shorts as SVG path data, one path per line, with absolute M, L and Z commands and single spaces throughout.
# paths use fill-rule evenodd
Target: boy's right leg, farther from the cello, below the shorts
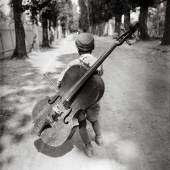
M 95 133 L 95 142 L 96 144 L 98 144 L 99 146 L 103 145 L 103 139 L 102 139 L 102 134 L 101 134 L 101 128 L 100 128 L 100 124 L 99 121 L 91 121 L 94 133 Z

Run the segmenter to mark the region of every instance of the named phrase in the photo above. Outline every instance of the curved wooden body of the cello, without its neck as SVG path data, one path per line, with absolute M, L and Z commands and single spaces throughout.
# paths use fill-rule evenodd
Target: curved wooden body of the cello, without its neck
M 46 97 L 34 107 L 32 112 L 33 132 L 40 136 L 47 145 L 54 147 L 62 145 L 74 126 L 72 121 L 74 115 L 79 110 L 88 110 L 103 96 L 104 82 L 101 76 L 93 74 L 76 93 L 69 108 L 64 107 L 65 95 L 86 72 L 87 68 L 81 65 L 70 67 L 62 79 L 61 88 L 54 96 L 57 97 L 57 100 L 53 104 L 49 104 L 50 97 Z M 56 109 L 62 115 L 57 115 Z M 69 117 L 69 120 L 66 122 L 64 120 L 67 117 Z

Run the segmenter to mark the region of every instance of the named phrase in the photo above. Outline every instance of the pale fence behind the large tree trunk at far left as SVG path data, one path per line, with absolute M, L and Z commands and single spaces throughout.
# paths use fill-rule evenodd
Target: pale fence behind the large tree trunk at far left
M 25 43 L 27 51 L 29 50 L 33 37 L 35 35 L 35 28 L 32 25 L 24 24 L 25 29 Z M 42 42 L 42 29 L 38 27 L 39 41 Z M 14 23 L 0 23 L 0 58 L 12 54 L 15 48 L 15 28 Z

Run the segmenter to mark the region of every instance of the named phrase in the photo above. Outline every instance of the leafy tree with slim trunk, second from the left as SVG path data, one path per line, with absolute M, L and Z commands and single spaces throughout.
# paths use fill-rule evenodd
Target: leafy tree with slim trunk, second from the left
M 73 20 L 71 0 L 31 0 L 27 8 L 31 12 L 33 21 L 36 21 L 39 15 L 43 30 L 43 47 L 50 47 L 48 31 L 51 26 L 56 27 L 58 19 L 66 29 Z

